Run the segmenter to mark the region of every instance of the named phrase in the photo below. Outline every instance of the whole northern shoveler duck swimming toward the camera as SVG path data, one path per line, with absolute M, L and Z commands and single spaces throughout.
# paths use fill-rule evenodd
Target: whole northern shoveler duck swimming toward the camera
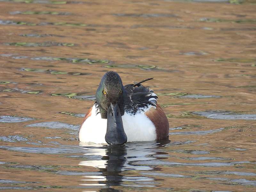
M 81 142 L 123 145 L 131 141 L 168 139 L 169 123 L 153 90 L 123 85 L 114 71 L 107 72 L 96 91 L 96 101 L 79 130 Z

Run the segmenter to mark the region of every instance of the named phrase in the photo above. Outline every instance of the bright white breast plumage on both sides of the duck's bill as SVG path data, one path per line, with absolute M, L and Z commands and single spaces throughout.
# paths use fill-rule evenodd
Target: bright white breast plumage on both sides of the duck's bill
M 107 119 L 101 119 L 100 113 L 96 115 L 95 106 L 92 107 L 91 113 L 80 128 L 79 140 L 106 143 Z M 139 111 L 135 116 L 125 112 L 122 120 L 127 142 L 156 140 L 156 127 L 143 112 Z

